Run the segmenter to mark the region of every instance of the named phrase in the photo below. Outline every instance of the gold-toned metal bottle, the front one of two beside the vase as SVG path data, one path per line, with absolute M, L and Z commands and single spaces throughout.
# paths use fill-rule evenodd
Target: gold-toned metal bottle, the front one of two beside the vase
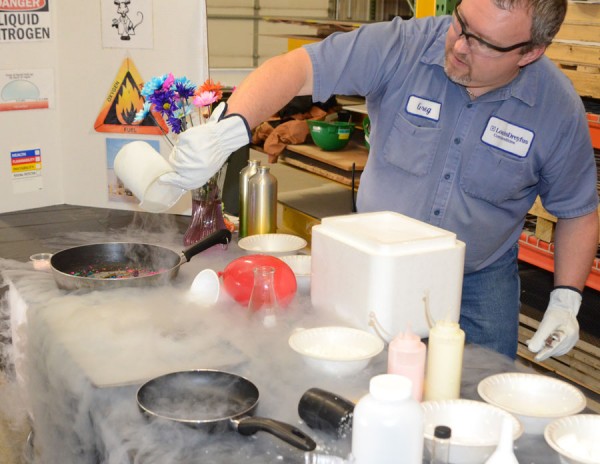
M 277 179 L 266 166 L 248 181 L 248 235 L 277 232 Z

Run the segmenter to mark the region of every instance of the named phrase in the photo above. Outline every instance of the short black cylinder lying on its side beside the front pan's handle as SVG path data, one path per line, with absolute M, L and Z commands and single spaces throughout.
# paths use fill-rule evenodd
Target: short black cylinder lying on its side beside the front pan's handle
M 343 437 L 352 430 L 354 403 L 320 388 L 310 388 L 298 402 L 298 414 L 315 430 Z

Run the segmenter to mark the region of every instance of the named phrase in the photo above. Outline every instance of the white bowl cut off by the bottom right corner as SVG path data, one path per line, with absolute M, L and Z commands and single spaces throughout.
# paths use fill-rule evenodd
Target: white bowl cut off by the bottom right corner
M 600 463 L 600 415 L 577 414 L 555 419 L 544 438 L 563 464 Z

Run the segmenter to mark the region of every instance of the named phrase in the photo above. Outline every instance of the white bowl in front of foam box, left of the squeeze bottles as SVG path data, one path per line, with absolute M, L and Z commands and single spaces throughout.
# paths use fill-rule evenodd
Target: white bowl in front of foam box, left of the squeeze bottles
M 336 326 L 297 329 L 289 345 L 307 365 L 337 376 L 360 372 L 384 347 L 372 333 Z

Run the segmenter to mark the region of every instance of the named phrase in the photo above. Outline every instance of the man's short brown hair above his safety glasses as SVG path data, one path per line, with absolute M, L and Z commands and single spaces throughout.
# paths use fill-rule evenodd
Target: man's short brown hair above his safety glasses
M 523 47 L 522 53 L 540 45 L 549 45 L 567 13 L 567 0 L 494 0 L 494 3 L 503 10 L 527 8 L 530 11 L 531 45 Z

